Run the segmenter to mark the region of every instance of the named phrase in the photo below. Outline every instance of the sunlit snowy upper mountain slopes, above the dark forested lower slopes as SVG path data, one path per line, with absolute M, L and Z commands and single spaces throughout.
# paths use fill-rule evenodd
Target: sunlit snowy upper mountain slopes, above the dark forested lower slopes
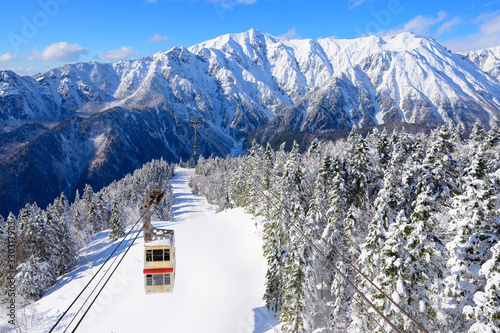
M 489 72 L 498 50 L 488 50 L 488 59 L 483 53 L 475 57 Z M 325 95 L 332 104 L 318 119 Z M 491 125 L 500 85 L 463 55 L 414 33 L 290 40 L 251 29 L 138 60 L 78 63 L 33 77 L 0 72 L 0 119 L 61 120 L 162 103 L 178 119 L 201 116 L 232 136 L 290 109 L 305 113 L 299 126 L 312 131 L 392 121 L 467 124 L 477 117 Z

